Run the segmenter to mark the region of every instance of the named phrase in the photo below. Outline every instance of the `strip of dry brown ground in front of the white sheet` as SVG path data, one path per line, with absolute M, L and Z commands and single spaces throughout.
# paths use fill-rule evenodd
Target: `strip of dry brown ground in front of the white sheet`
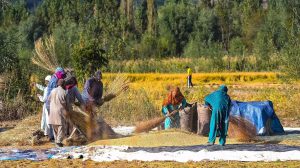
M 273 167 L 289 167 L 296 168 L 300 166 L 300 162 L 287 161 L 287 162 L 233 162 L 233 161 L 221 161 L 221 162 L 141 162 L 141 161 L 115 161 L 115 162 L 94 162 L 94 161 L 82 161 L 82 160 L 47 160 L 47 161 L 0 161 L 0 167 L 4 168 L 77 168 L 77 167 L 105 167 L 105 168 L 132 168 L 132 167 L 149 167 L 149 168 L 196 168 L 196 167 L 228 167 L 228 168 L 240 168 L 240 167 L 262 167 L 262 168 L 273 168 Z

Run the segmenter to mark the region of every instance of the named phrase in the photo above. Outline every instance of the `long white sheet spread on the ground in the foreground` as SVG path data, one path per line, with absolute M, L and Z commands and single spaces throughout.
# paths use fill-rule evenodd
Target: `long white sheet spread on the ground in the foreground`
M 121 129 L 122 130 L 122 129 Z M 124 129 L 131 132 L 131 129 Z M 126 132 L 126 131 L 125 131 Z M 300 129 L 286 129 L 288 135 L 277 138 L 299 138 Z M 265 138 L 265 137 L 264 137 Z M 274 137 L 276 138 L 276 137 Z M 83 159 L 94 161 L 287 161 L 300 160 L 300 146 L 280 144 L 128 147 L 128 146 L 73 146 L 47 150 L 0 149 L 0 160 Z

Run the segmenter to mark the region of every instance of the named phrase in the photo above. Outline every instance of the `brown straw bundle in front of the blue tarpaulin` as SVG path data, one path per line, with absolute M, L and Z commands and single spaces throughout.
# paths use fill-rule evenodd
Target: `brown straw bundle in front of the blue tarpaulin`
M 230 116 L 228 135 L 238 141 L 249 142 L 255 140 L 256 128 L 242 117 Z

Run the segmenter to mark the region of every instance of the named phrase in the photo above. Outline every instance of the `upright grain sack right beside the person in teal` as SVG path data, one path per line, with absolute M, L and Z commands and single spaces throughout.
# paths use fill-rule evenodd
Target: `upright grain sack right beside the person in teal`
M 209 133 L 211 110 L 203 104 L 197 104 L 197 113 L 198 113 L 197 134 L 207 136 Z

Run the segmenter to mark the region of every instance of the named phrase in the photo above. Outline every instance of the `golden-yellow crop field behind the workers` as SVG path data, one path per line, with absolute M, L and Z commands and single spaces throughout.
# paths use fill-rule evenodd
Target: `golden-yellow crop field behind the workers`
M 104 89 L 117 73 L 103 74 Z M 180 87 L 189 103 L 203 103 L 205 95 L 219 84 L 229 87 L 229 95 L 239 101 L 271 100 L 283 122 L 292 124 L 300 116 L 300 87 L 298 83 L 287 84 L 274 72 L 228 72 L 194 73 L 195 87 L 186 87 L 186 74 L 127 73 L 130 89 L 115 100 L 104 105 L 102 114 L 118 123 L 132 123 L 161 115 L 161 106 L 170 87 Z M 122 114 L 122 115 L 120 115 Z M 285 121 L 285 119 L 287 119 Z

